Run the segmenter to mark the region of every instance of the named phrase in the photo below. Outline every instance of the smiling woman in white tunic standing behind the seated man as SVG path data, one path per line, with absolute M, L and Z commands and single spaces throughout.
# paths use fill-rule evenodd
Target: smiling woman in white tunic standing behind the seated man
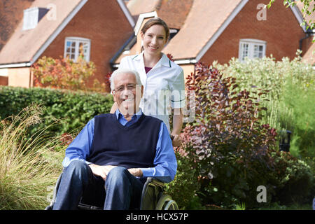
M 144 97 L 140 107 L 144 114 L 160 118 L 167 125 L 169 133 L 174 137 L 173 146 L 181 144 L 181 128 L 185 106 L 185 83 L 183 69 L 172 62 L 164 53 L 169 38 L 169 27 L 160 18 L 148 20 L 141 29 L 143 52 L 139 55 L 124 57 L 119 65 L 121 68 L 134 69 L 139 72 L 144 85 Z M 174 109 L 173 130 L 169 127 L 169 102 Z M 115 113 L 116 103 L 111 113 Z

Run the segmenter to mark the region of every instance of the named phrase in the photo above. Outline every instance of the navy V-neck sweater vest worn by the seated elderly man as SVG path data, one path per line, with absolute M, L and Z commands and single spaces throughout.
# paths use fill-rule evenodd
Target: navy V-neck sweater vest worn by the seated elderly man
M 94 117 L 94 138 L 87 161 L 96 165 L 129 168 L 154 167 L 156 145 L 162 120 L 142 116 L 137 123 L 123 126 L 116 114 Z

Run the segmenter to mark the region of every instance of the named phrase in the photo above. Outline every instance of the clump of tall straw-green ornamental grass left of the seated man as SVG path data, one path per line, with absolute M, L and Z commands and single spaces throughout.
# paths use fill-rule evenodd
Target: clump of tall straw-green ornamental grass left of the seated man
M 52 154 L 50 160 L 45 159 L 53 151 L 50 146 L 59 144 L 47 127 L 27 137 L 27 130 L 43 121 L 42 115 L 41 108 L 31 105 L 17 116 L 1 120 L 0 210 L 44 209 L 48 204 L 48 186 L 54 185 L 62 167 Z

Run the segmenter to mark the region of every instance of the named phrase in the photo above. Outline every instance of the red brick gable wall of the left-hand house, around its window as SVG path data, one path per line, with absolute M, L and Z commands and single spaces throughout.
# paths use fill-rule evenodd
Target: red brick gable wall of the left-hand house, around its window
M 53 58 L 63 57 L 66 37 L 89 38 L 90 61 L 94 62 L 97 68 L 95 76 L 100 82 L 104 82 L 104 76 L 111 71 L 109 64 L 111 57 L 130 38 L 132 31 L 117 1 L 87 1 L 41 57 L 44 55 Z

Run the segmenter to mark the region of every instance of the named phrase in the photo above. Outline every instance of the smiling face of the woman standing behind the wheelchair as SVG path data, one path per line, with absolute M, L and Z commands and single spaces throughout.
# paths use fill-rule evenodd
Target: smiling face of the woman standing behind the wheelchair
M 165 29 L 162 25 L 153 25 L 146 30 L 146 33 L 141 32 L 141 38 L 144 42 L 144 50 L 150 55 L 160 55 L 160 52 L 167 43 Z

